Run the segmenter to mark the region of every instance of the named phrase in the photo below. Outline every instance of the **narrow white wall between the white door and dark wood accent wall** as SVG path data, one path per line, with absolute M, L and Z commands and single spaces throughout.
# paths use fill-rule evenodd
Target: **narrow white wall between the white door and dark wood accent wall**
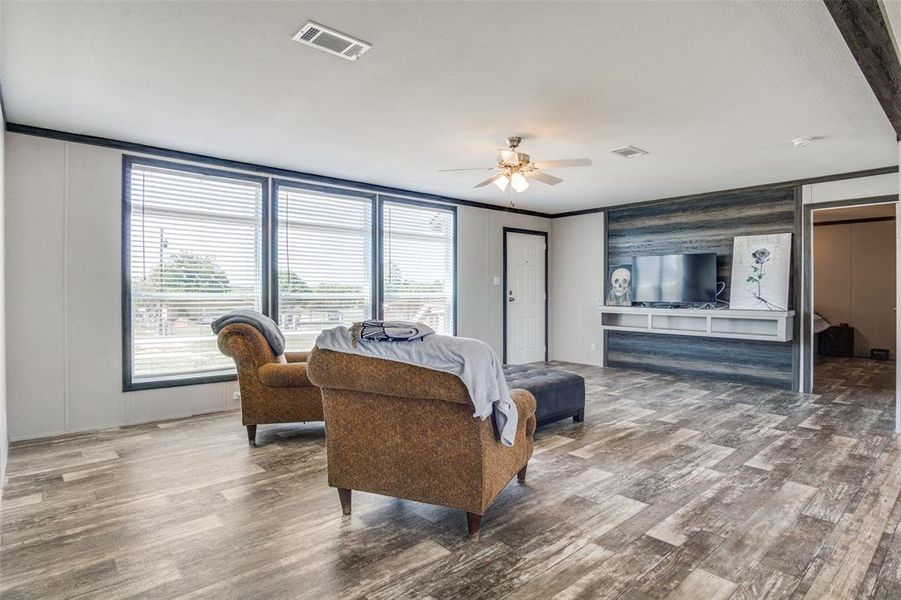
M 601 365 L 595 306 L 604 293 L 604 214 L 554 219 L 551 238 L 550 357 Z

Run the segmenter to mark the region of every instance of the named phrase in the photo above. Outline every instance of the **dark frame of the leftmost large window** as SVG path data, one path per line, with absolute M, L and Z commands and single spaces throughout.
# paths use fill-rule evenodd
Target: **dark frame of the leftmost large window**
M 237 371 L 232 367 L 228 373 L 210 374 L 181 374 L 165 375 L 152 379 L 135 381 L 133 373 L 133 347 L 134 335 L 132 331 L 132 301 L 131 301 L 131 171 L 135 165 L 158 167 L 173 171 L 182 171 L 198 175 L 212 175 L 227 179 L 239 179 L 260 184 L 261 194 L 261 222 L 262 231 L 260 238 L 260 256 L 262 262 L 261 273 L 261 304 L 264 314 L 269 314 L 270 290 L 269 290 L 269 178 L 259 175 L 249 175 L 236 171 L 214 169 L 200 165 L 172 162 L 143 156 L 122 155 L 122 391 L 131 392 L 137 390 L 151 390 L 159 388 L 179 387 L 184 385 L 199 385 L 205 383 L 221 383 L 235 381 Z

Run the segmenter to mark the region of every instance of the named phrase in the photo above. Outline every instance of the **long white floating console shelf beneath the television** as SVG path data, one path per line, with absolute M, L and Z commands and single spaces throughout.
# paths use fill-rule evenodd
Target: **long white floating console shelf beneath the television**
M 598 306 L 601 328 L 665 335 L 788 342 L 795 311 Z

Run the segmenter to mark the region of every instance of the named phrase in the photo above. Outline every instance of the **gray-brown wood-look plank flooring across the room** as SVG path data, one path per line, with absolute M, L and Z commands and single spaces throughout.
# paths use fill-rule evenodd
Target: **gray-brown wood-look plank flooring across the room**
M 236 412 L 14 444 L 0 596 L 899 598 L 890 365 L 822 361 L 811 395 L 556 363 L 585 422 L 542 428 L 465 537 L 459 511 L 357 493 L 322 424 Z

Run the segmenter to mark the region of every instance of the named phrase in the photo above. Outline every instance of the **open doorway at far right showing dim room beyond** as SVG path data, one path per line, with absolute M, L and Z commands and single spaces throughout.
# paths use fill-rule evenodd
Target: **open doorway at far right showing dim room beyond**
M 895 405 L 895 204 L 812 210 L 812 391 L 833 402 Z

